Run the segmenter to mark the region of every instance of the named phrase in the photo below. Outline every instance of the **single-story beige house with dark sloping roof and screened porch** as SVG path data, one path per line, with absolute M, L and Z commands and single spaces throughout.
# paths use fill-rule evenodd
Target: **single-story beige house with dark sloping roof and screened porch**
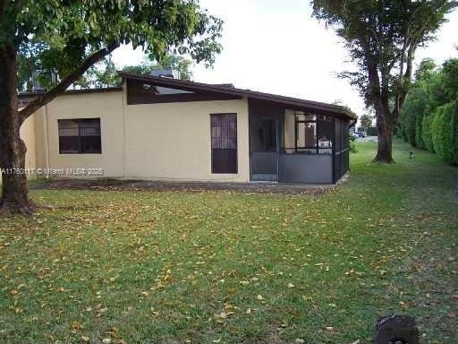
M 119 74 L 119 87 L 68 90 L 27 119 L 27 168 L 38 176 L 310 184 L 335 184 L 349 169 L 356 116 L 346 107 Z M 20 107 L 35 97 L 22 93 Z

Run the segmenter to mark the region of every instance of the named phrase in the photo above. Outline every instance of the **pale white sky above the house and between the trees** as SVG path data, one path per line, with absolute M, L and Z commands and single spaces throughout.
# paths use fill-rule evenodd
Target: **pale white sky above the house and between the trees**
M 223 52 L 211 69 L 195 64 L 196 82 L 235 87 L 323 102 L 341 100 L 357 115 L 364 113 L 358 92 L 336 73 L 354 66 L 342 41 L 323 22 L 311 17 L 308 0 L 200 0 L 208 13 L 224 20 Z M 458 57 L 458 11 L 450 13 L 437 40 L 417 50 L 415 64 L 425 57 L 442 64 Z M 139 64 L 140 49 L 120 47 L 114 64 Z

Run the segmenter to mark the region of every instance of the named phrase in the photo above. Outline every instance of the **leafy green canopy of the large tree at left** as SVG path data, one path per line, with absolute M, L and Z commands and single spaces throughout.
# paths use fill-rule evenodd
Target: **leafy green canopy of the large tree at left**
M 11 44 L 15 51 L 29 46 L 40 71 L 56 71 L 63 78 L 58 91 L 120 44 L 140 47 L 157 59 L 174 52 L 207 64 L 221 51 L 222 21 L 194 0 L 6 2 L 4 17 L 0 44 Z M 26 107 L 22 115 L 36 109 Z

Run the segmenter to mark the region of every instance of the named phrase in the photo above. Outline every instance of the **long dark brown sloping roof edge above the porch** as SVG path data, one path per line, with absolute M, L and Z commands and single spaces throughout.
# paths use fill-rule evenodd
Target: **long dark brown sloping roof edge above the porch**
M 285 97 L 277 94 L 259 92 L 255 90 L 243 90 L 233 87 L 232 84 L 209 84 L 203 82 L 189 82 L 184 80 L 177 80 L 172 78 L 165 78 L 152 75 L 140 75 L 133 73 L 118 72 L 123 79 L 135 80 L 140 82 L 150 82 L 157 86 L 165 86 L 171 88 L 180 88 L 182 90 L 204 90 L 217 93 L 223 93 L 233 96 L 242 96 L 249 99 L 265 100 L 274 102 L 276 104 L 306 108 L 309 110 L 317 110 L 334 114 L 336 116 L 345 116 L 352 120 L 356 120 L 358 116 L 352 112 L 348 107 L 341 107 L 334 104 L 321 103 L 318 101 L 298 99 L 293 97 Z

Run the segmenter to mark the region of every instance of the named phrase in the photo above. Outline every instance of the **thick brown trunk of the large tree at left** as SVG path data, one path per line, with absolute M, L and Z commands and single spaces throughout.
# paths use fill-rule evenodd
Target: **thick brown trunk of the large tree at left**
M 33 202 L 29 199 L 24 171 L 27 149 L 19 132 L 22 120 L 18 113 L 16 93 L 16 53 L 13 47 L 6 44 L 0 47 L 0 94 L 0 213 L 10 210 L 30 214 Z

